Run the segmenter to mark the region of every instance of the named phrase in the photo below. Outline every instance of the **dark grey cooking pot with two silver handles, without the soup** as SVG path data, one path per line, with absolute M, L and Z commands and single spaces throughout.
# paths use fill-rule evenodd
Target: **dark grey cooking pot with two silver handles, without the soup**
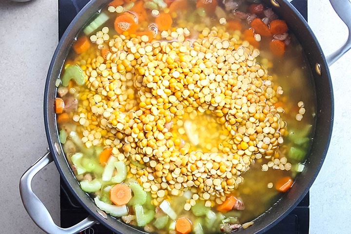
M 115 233 L 141 233 L 141 231 L 99 210 L 94 200 L 81 190 L 59 144 L 56 116 L 53 108 L 56 97 L 55 81 L 60 75 L 63 61 L 73 40 L 85 22 L 109 1 L 111 0 L 90 1 L 68 26 L 59 42 L 49 67 L 44 93 L 44 120 L 49 151 L 31 166 L 20 179 L 20 195 L 26 211 L 43 231 L 50 234 L 74 234 L 96 223 L 102 223 Z M 328 66 L 351 48 L 351 2 L 349 0 L 330 1 L 340 18 L 348 25 L 349 37 L 340 49 L 326 58 L 312 30 L 288 1 L 263 1 L 266 5 L 271 6 L 281 19 L 286 20 L 289 29 L 300 41 L 306 54 L 308 64 L 311 66 L 316 92 L 316 125 L 312 147 L 306 157 L 305 169 L 296 176 L 292 188 L 269 211 L 256 218 L 253 226 L 248 229 L 235 231 L 237 234 L 263 233 L 284 218 L 285 215 L 289 214 L 309 191 L 327 154 L 333 123 L 333 95 Z M 55 161 L 60 176 L 69 190 L 90 214 L 87 218 L 70 228 L 57 226 L 45 205 L 32 191 L 31 182 L 33 177 L 52 161 Z

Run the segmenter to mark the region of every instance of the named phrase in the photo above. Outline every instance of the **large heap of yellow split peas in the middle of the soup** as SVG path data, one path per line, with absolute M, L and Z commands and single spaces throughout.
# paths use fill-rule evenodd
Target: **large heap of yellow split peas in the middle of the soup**
M 161 37 L 189 34 L 177 28 Z M 87 147 L 97 142 L 112 147 L 128 165 L 127 177 L 151 192 L 154 205 L 188 190 L 196 196 L 186 210 L 196 199 L 206 200 L 206 206 L 220 204 L 254 159 L 271 157 L 283 142 L 273 105 L 282 89 L 256 63 L 259 51 L 238 38 L 222 27 L 204 29 L 192 42 L 119 35 L 109 39 L 106 58 L 85 61 L 87 88 L 75 119 L 81 125 L 77 131 L 85 133 Z M 84 123 L 82 113 L 87 113 Z M 187 119 L 219 125 L 218 137 L 200 141 L 214 134 L 202 131 L 196 140 Z M 265 165 L 288 169 L 283 162 Z

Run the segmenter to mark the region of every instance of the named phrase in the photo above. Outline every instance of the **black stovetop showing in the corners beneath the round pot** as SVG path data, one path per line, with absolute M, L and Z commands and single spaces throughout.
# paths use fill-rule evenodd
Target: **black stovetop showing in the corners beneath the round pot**
M 89 0 L 59 0 L 59 38 L 63 35 L 69 23 Z M 307 0 L 292 0 L 291 3 L 307 20 Z M 265 234 L 309 234 L 310 194 Z M 61 227 L 71 227 L 88 216 L 79 202 L 70 194 L 69 189 L 61 181 L 60 189 L 60 218 Z M 79 234 L 114 234 L 101 224 L 96 224 Z

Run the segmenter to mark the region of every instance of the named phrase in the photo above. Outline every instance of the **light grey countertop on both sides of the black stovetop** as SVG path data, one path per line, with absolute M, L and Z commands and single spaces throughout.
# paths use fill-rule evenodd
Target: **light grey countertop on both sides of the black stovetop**
M 309 24 L 330 54 L 347 37 L 347 28 L 328 0 L 309 0 Z M 47 140 L 43 124 L 46 73 L 58 44 L 58 0 L 0 1 L 0 233 L 43 233 L 20 199 L 20 176 L 40 156 Z M 323 167 L 311 188 L 310 233 L 351 231 L 351 52 L 331 68 L 334 128 Z M 39 172 L 33 187 L 59 223 L 59 173 L 54 163 Z

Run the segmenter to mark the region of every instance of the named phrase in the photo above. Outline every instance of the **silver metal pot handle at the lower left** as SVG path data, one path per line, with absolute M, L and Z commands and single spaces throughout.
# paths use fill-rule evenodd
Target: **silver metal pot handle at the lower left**
M 48 234 L 75 234 L 98 223 L 93 216 L 89 215 L 87 218 L 69 228 L 61 228 L 55 224 L 45 205 L 39 200 L 38 196 L 34 194 L 31 185 L 33 177 L 52 161 L 53 157 L 51 152 L 48 151 L 20 178 L 20 196 L 28 215 L 39 228 Z

